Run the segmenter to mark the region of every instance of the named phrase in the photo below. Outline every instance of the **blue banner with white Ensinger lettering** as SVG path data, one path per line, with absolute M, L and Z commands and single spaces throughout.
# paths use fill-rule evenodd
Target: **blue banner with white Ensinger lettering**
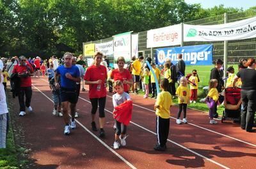
M 164 64 L 166 59 L 171 59 L 172 63 L 176 64 L 178 54 L 182 54 L 182 59 L 185 61 L 186 65 L 212 64 L 212 44 L 175 48 L 157 48 L 156 63 Z

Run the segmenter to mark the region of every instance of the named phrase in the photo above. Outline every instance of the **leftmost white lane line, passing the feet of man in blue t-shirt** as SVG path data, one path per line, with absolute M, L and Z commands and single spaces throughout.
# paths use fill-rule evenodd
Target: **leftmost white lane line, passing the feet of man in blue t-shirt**
M 33 84 L 32 84 L 33 85 Z M 48 96 L 46 96 L 44 94 L 44 92 L 40 91 L 40 89 L 38 89 L 35 85 L 33 85 L 33 87 L 36 88 L 36 90 L 38 90 L 39 92 L 41 92 L 47 99 L 49 99 L 50 101 L 52 101 L 51 98 L 49 98 Z M 53 101 L 52 101 L 53 103 Z M 70 115 L 69 115 L 70 116 Z M 71 116 L 70 116 L 71 117 Z M 96 135 L 94 135 L 88 128 L 86 128 L 83 124 L 81 124 L 81 122 L 77 121 L 77 119 L 75 119 L 75 121 L 82 126 L 82 128 L 84 128 L 85 131 L 87 131 L 88 133 L 90 133 L 90 135 L 92 135 L 94 138 L 96 138 L 96 140 L 98 140 L 100 143 L 102 143 L 102 145 L 104 145 L 109 151 L 113 152 L 113 154 L 115 154 L 118 158 L 120 158 L 122 161 L 124 161 L 124 163 L 126 163 L 127 165 L 129 165 L 131 168 L 135 169 L 136 167 L 133 166 L 131 163 L 129 163 L 129 161 L 127 161 L 125 158 L 123 158 L 120 154 L 118 154 L 117 152 L 115 152 L 111 147 L 109 147 L 106 143 L 104 143 L 102 140 L 100 140 Z

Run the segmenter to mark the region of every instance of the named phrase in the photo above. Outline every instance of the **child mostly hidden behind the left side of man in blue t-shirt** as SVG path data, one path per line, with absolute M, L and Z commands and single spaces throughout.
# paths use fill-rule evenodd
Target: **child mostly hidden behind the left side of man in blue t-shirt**
M 58 83 L 60 84 L 60 77 L 58 78 Z M 52 77 L 51 80 L 49 81 L 49 86 L 52 91 L 52 99 L 54 102 L 54 108 L 52 111 L 52 115 L 58 115 L 58 116 L 62 117 L 63 115 L 61 113 L 60 89 L 56 89 L 54 77 Z M 57 114 L 57 112 L 58 112 L 58 114 Z

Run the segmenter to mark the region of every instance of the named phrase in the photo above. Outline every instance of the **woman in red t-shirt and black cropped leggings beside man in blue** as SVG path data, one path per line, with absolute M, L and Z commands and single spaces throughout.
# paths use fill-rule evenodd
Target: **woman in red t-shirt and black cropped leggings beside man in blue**
M 100 123 L 100 134 L 99 136 L 104 138 L 105 131 L 105 112 L 104 108 L 106 105 L 106 82 L 107 82 L 107 71 L 106 67 L 100 65 L 102 61 L 103 54 L 101 52 L 96 52 L 93 56 L 94 64 L 87 68 L 84 75 L 84 84 L 89 85 L 89 98 L 92 103 L 92 130 L 97 131 L 95 123 L 95 114 L 97 112 L 99 103 L 99 123 Z

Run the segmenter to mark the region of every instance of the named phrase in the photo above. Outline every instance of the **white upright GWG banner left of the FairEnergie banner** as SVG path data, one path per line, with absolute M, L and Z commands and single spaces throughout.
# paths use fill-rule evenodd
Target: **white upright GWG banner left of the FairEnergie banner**
M 125 61 L 131 60 L 131 32 L 116 34 L 114 36 L 114 58 L 123 56 Z

